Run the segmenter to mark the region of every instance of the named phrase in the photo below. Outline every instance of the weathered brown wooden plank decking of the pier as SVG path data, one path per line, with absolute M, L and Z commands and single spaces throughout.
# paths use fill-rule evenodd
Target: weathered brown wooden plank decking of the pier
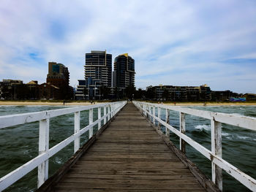
M 53 191 L 204 191 L 133 104 L 80 157 Z

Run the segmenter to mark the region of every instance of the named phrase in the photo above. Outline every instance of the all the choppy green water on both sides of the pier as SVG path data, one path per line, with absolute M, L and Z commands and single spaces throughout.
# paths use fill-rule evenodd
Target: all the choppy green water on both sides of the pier
M 0 115 L 11 115 L 24 112 L 55 110 L 63 107 L 47 106 L 0 106 Z M 197 110 L 209 110 L 256 117 L 256 107 L 192 107 Z M 97 111 L 94 111 L 94 120 Z M 161 118 L 165 119 L 162 111 Z M 81 112 L 81 127 L 88 125 L 89 113 Z M 170 124 L 178 129 L 178 112 L 170 112 Z M 73 134 L 74 116 L 63 115 L 50 119 L 50 147 Z M 97 129 L 97 128 L 95 128 Z M 96 131 L 94 129 L 94 131 Z M 164 128 L 163 128 L 164 130 Z M 38 155 L 39 123 L 0 129 L 0 177 L 18 168 Z M 203 118 L 186 115 L 186 134 L 211 150 L 211 122 Z M 170 134 L 170 139 L 178 146 L 179 139 Z M 81 144 L 88 140 L 88 135 L 81 137 Z M 251 177 L 256 178 L 256 131 L 222 124 L 222 158 Z M 200 155 L 192 147 L 187 146 L 187 156 L 211 178 L 211 161 Z M 73 153 L 73 143 L 50 158 L 49 174 L 52 175 Z M 224 191 L 249 191 L 232 177 L 223 172 Z M 6 191 L 34 191 L 37 188 L 37 169 L 30 172 Z

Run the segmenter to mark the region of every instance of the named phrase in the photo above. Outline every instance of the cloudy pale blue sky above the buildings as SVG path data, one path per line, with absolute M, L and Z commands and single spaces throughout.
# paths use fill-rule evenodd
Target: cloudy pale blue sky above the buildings
M 84 79 L 85 53 L 135 59 L 135 86 L 256 93 L 255 0 L 1 0 L 0 80 Z

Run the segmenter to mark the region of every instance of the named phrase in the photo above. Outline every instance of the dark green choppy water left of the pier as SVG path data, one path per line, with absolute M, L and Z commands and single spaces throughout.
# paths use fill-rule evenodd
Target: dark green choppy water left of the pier
M 1 115 L 12 115 L 25 112 L 56 110 L 64 107 L 50 106 L 0 106 Z M 97 109 L 94 110 L 94 120 Z M 89 124 L 89 112 L 80 112 L 80 127 Z M 94 133 L 97 127 L 94 127 Z M 58 144 L 74 133 L 74 115 L 62 115 L 50 118 L 50 146 Z M 30 161 L 38 155 L 39 122 L 26 123 L 20 126 L 0 129 L 0 177 Z M 80 146 L 88 140 L 88 133 L 80 137 Z M 73 154 L 73 142 L 49 160 L 49 177 L 60 168 Z M 37 188 L 37 169 L 27 174 L 5 191 L 35 191 Z

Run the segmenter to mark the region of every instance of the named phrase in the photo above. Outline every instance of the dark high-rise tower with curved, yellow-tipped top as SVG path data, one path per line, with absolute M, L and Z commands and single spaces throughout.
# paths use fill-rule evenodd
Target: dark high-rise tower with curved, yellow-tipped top
M 114 61 L 113 87 L 127 88 L 135 86 L 135 60 L 124 53 Z

